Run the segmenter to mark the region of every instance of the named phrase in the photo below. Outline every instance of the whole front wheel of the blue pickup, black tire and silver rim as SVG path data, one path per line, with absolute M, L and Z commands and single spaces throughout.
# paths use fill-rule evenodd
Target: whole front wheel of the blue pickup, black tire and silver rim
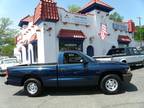
M 100 89 L 105 94 L 117 94 L 121 89 L 121 79 L 119 76 L 110 74 L 102 78 Z

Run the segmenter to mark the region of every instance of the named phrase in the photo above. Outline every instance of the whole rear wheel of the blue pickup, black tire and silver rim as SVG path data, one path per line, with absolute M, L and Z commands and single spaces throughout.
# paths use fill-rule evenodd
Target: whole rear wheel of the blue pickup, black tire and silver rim
M 42 84 L 39 80 L 30 78 L 24 82 L 24 91 L 30 97 L 39 96 L 42 92 Z

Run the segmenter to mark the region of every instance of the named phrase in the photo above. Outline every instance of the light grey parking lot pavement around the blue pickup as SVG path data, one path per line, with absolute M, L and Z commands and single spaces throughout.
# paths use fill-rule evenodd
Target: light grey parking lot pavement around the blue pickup
M 23 88 L 5 85 L 0 77 L 0 108 L 144 108 L 144 68 L 132 71 L 131 84 L 117 95 L 105 95 L 95 88 L 46 90 L 41 97 L 25 95 Z

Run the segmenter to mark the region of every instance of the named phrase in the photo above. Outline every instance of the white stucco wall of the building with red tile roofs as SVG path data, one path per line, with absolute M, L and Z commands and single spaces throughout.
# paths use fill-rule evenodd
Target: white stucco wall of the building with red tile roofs
M 59 39 L 57 36 L 61 29 L 81 30 L 86 36 L 86 39 L 83 42 L 83 52 L 86 54 L 87 47 L 91 45 L 94 47 L 95 56 L 105 55 L 113 45 L 118 47 L 117 39 L 119 35 L 127 35 L 132 39 L 132 34 L 124 31 L 115 31 L 113 29 L 112 26 L 113 21 L 109 20 L 109 16 L 107 15 L 108 13 L 106 12 L 100 11 L 100 13 L 98 13 L 99 12 L 98 10 L 94 10 L 88 13 L 87 15 L 82 15 L 82 17 L 86 16 L 87 22 L 83 20 L 84 22 L 80 22 L 80 24 L 75 24 L 73 23 L 73 21 L 70 21 L 70 23 L 66 24 L 63 23 L 63 17 L 65 15 L 68 14 L 70 17 L 73 17 L 77 14 L 69 13 L 62 8 L 58 8 L 58 12 L 60 19 L 56 23 L 42 21 L 39 25 L 35 25 L 34 27 L 32 27 L 33 26 L 32 23 L 29 23 L 27 28 L 21 30 L 21 35 L 24 36 L 24 40 L 26 39 L 29 40 L 34 33 L 37 34 L 38 63 L 57 62 L 57 57 L 59 53 Z M 70 18 L 70 20 L 73 19 Z M 102 40 L 98 35 L 100 33 L 101 29 L 100 25 L 102 23 L 107 25 L 108 33 L 110 34 L 104 40 Z M 29 29 L 31 30 L 29 31 Z M 39 29 L 39 31 L 37 31 L 37 29 Z M 92 41 L 90 41 L 90 38 L 92 38 Z M 133 45 L 134 44 L 132 43 L 130 44 L 130 46 Z M 17 49 L 21 46 L 22 44 L 18 43 Z M 29 52 L 30 50 L 32 51 L 33 55 L 33 48 L 31 44 L 29 45 Z M 26 62 L 25 49 L 23 47 L 22 51 L 23 51 L 23 61 Z M 30 59 L 28 60 L 28 62 L 30 62 Z M 32 62 L 34 62 L 34 58 L 32 58 Z

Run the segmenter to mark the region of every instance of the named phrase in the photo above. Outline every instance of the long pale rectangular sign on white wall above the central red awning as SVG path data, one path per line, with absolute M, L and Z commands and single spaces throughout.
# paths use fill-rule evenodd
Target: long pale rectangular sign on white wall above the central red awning
M 77 15 L 72 13 L 63 13 L 62 22 L 73 23 L 79 25 L 90 25 L 88 16 Z

